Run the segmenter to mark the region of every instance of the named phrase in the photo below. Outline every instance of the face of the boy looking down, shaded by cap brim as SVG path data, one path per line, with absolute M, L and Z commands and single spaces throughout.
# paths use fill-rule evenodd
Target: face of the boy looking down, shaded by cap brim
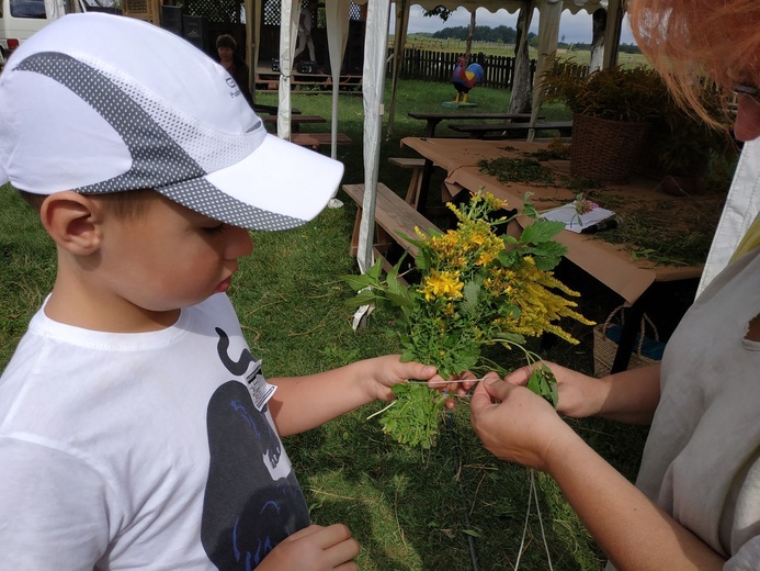
M 248 231 L 222 224 L 150 193 L 138 215 L 106 213 L 99 250 L 99 273 L 118 298 L 149 312 L 188 307 L 227 291 L 248 256 Z

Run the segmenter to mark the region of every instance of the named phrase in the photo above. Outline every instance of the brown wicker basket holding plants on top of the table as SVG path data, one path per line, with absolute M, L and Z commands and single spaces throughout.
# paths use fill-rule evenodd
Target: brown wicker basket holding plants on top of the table
M 572 116 L 570 175 L 625 180 L 638 160 L 648 123 L 610 121 L 582 113 Z

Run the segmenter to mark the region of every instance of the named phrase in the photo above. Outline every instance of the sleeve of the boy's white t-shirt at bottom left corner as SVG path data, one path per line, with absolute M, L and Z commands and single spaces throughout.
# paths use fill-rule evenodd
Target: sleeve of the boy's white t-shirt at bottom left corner
M 0 438 L 0 570 L 92 571 L 109 545 L 106 486 L 81 459 Z

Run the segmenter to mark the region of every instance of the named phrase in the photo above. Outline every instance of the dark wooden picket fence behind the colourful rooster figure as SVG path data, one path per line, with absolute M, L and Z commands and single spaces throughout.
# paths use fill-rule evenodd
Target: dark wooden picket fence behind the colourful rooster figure
M 435 52 L 430 49 L 406 48 L 401 58 L 399 77 L 405 79 L 421 79 L 423 81 L 436 81 L 447 83 L 451 81 L 456 67 L 460 52 Z M 392 52 L 388 51 L 388 58 Z M 388 60 L 388 74 L 393 70 L 393 61 Z M 507 56 L 489 56 L 474 54 L 473 61 L 480 64 L 486 79 L 484 87 L 496 89 L 512 89 L 514 82 L 514 58 Z M 531 85 L 535 75 L 535 59 L 531 59 Z

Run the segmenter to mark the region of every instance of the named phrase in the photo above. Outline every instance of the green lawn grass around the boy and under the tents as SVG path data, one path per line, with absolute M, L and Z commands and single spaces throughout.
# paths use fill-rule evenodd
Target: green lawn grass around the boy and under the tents
M 418 135 L 423 126 L 406 113 L 439 110 L 452 90 L 406 81 L 399 93 L 396 132 L 382 142 L 379 178 L 401 192 L 409 172 L 389 165 L 387 157 L 408 154 L 399 148 L 399 138 Z M 480 111 L 503 111 L 508 104 L 508 94 L 494 90 L 476 89 L 470 98 Z M 259 100 L 276 103 L 276 96 Z M 305 113 L 322 115 L 330 109 L 328 96 L 295 96 L 294 104 Z M 542 113 L 554 119 L 564 110 L 547 108 Z M 344 182 L 363 178 L 362 121 L 361 99 L 341 97 L 340 130 L 355 142 L 339 147 L 347 166 Z M 439 128 L 446 134 L 444 125 Z M 253 233 L 253 253 L 241 260 L 230 296 L 251 351 L 263 359 L 270 377 L 321 371 L 397 347 L 393 315 L 375 314 L 370 327 L 351 328 L 345 301 L 353 292 L 340 276 L 356 271 L 349 256 L 355 206 L 343 194 L 339 198 L 345 200 L 343 208 L 328 209 L 300 228 Z M 55 254 L 31 210 L 8 186 L 0 188 L 0 224 L 3 368 L 50 289 Z M 582 310 L 589 317 L 602 321 L 620 303 L 571 266 L 562 265 L 558 271 L 582 292 Z M 591 328 L 567 327 L 580 346 L 557 343 L 541 348 L 536 343 L 534 348 L 552 360 L 591 372 Z M 490 350 L 488 356 L 501 363 L 515 359 L 503 349 Z M 469 427 L 466 402 L 456 407 L 451 428 L 430 451 L 408 450 L 384 437 L 378 423 L 366 419 L 379 408 L 379 403 L 373 403 L 286 439 L 314 522 L 349 525 L 363 546 L 358 560 L 362 571 L 464 571 L 473 569 L 472 552 L 479 569 L 513 569 L 528 508 L 529 471 L 495 459 L 481 447 Z M 634 478 L 646 428 L 598 419 L 571 423 L 613 466 Z M 536 485 L 554 569 L 601 570 L 603 555 L 557 486 L 541 474 Z M 547 569 L 535 511 L 525 544 L 520 569 Z

